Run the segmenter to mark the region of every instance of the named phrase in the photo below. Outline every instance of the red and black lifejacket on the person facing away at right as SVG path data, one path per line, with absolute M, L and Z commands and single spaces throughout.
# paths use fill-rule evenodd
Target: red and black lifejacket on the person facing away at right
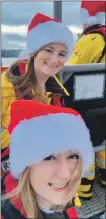
M 86 36 L 86 35 L 92 34 L 92 33 L 101 34 L 103 36 L 103 39 L 105 42 L 105 46 L 103 48 L 102 55 L 99 58 L 99 60 L 97 61 L 97 63 L 99 63 L 101 61 L 101 59 L 104 57 L 104 55 L 106 54 L 106 26 L 100 25 L 100 24 L 90 26 L 83 31 L 83 33 L 80 35 L 79 39 L 83 36 Z

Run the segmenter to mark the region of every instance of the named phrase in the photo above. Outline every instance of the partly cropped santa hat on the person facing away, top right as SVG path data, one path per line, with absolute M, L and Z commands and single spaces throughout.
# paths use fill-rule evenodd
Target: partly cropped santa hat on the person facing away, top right
M 105 1 L 86 1 L 81 3 L 81 21 L 82 24 L 90 26 L 95 24 L 105 24 L 106 2 Z

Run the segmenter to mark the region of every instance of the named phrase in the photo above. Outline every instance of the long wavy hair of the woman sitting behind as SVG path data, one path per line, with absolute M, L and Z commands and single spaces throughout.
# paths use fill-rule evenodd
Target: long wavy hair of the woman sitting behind
M 37 52 L 38 53 L 38 52 Z M 16 91 L 16 99 L 20 97 L 29 97 L 39 102 L 47 103 L 47 98 L 43 94 L 40 85 L 38 84 L 36 73 L 34 70 L 34 58 L 37 53 L 31 55 L 25 74 L 16 76 L 13 74 L 14 68 L 17 67 L 21 61 L 16 61 L 13 63 L 6 71 L 6 77 L 9 82 L 11 82 Z M 34 91 L 34 95 L 32 94 Z

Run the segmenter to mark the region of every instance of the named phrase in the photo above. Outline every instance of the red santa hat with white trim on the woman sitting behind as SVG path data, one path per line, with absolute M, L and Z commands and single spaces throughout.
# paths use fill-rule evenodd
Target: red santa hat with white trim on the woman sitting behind
M 29 24 L 26 41 L 26 51 L 20 55 L 23 59 L 28 59 L 30 54 L 50 43 L 65 44 L 70 58 L 74 46 L 71 30 L 60 21 L 41 13 L 37 13 Z

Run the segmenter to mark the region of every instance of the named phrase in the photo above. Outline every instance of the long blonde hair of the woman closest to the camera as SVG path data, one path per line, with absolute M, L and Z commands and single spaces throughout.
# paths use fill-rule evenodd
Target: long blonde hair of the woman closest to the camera
M 69 191 L 69 200 L 70 204 L 72 203 L 72 199 L 77 192 L 80 182 L 81 182 L 81 174 L 82 174 L 82 163 L 81 160 L 78 162 L 79 169 L 77 176 L 73 181 L 70 182 L 70 191 Z M 40 209 L 37 205 L 35 192 L 31 186 L 29 179 L 29 168 L 26 168 L 23 173 L 20 175 L 18 180 L 17 187 L 11 191 L 11 193 L 2 196 L 2 200 L 5 201 L 8 198 L 20 198 L 22 202 L 23 209 L 21 211 L 25 211 L 27 218 L 43 218 Z M 69 202 L 69 201 L 68 201 Z M 63 211 L 67 203 L 64 203 L 64 206 L 57 206 L 56 211 Z

